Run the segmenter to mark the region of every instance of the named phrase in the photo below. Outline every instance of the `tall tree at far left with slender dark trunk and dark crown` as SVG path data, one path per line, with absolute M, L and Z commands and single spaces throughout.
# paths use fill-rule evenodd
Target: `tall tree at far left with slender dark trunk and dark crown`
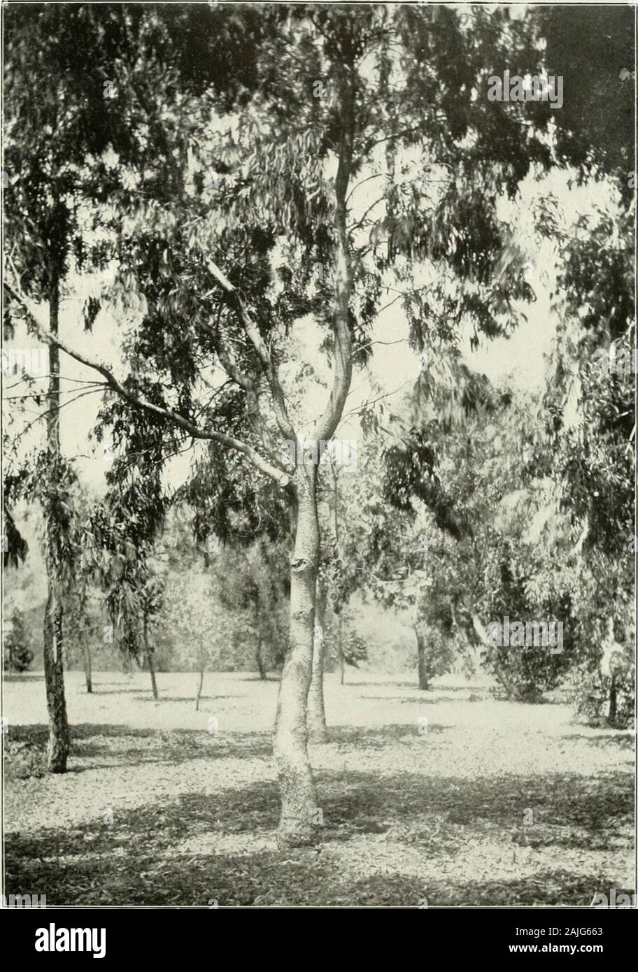
M 104 29 L 108 20 L 111 29 Z M 48 390 L 33 378 L 20 397 L 41 409 L 46 448 L 31 464 L 19 451 L 17 468 L 28 472 L 21 495 L 42 504 L 46 522 L 45 563 L 49 591 L 44 618 L 44 667 L 50 721 L 48 762 L 64 772 L 69 732 L 63 677 L 63 575 L 72 572 L 74 551 L 68 542 L 70 484 L 73 469 L 60 451 L 61 374 L 58 333 L 60 299 L 70 263 L 96 265 L 103 246 L 88 241 L 79 200 L 103 199 L 108 171 L 100 161 L 107 146 L 130 144 L 117 107 L 104 97 L 100 57 L 108 61 L 122 42 L 117 18 L 102 23 L 88 5 L 69 8 L 17 6 L 4 12 L 5 23 L 5 245 L 16 267 L 19 286 L 29 299 L 47 306 Z M 114 29 L 115 28 L 115 29 Z M 87 72 L 86 65 L 94 64 Z M 88 166 L 92 156 L 95 164 Z M 20 327 L 23 305 L 9 295 L 5 329 Z M 91 313 L 91 308 L 88 308 Z M 82 388 L 83 386 L 81 386 Z M 89 386 L 90 387 L 90 386 Z M 86 387 L 84 391 L 86 391 Z M 83 393 L 81 393 L 83 394 Z M 12 405 L 12 409 L 16 406 Z M 14 462 L 10 463 L 14 474 Z

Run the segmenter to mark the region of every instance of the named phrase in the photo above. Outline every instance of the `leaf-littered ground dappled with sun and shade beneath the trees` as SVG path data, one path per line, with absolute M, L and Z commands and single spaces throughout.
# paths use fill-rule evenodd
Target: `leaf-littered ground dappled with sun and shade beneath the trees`
M 8 680 L 6 893 L 50 905 L 589 905 L 632 892 L 633 746 L 563 705 L 445 677 L 327 677 L 316 848 L 280 853 L 277 683 L 68 673 L 70 772 L 41 774 L 42 676 Z M 218 731 L 214 728 L 217 720 Z M 427 720 L 427 723 L 422 721 Z M 427 728 L 427 731 L 425 731 Z M 527 822 L 524 823 L 523 821 Z

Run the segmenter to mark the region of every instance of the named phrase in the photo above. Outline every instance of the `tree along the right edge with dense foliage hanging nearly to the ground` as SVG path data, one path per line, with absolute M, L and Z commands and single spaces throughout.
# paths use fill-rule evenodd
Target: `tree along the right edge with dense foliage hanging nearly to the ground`
M 622 725 L 635 697 L 634 13 L 622 6 L 539 11 L 548 70 L 560 65 L 574 89 L 557 113 L 557 153 L 579 181 L 595 179 L 600 189 L 574 226 L 556 206 L 544 220 L 558 250 L 560 318 L 544 401 L 550 474 L 567 520 L 559 540 L 576 554 L 579 705 Z M 580 84 L 584 72 L 595 84 Z

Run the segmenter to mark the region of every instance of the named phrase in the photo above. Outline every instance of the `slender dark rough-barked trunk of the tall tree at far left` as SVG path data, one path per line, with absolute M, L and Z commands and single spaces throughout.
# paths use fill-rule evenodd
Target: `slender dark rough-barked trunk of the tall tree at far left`
M 56 278 L 49 297 L 49 329 L 57 333 L 59 289 Z M 43 660 L 49 712 L 48 768 L 51 773 L 64 773 L 69 754 L 69 724 L 64 697 L 64 669 L 62 666 L 62 603 L 60 600 L 58 565 L 56 563 L 57 529 L 55 494 L 60 466 L 59 443 L 59 350 L 49 345 L 49 410 L 47 413 L 47 454 L 49 460 L 49 508 L 47 522 L 47 604 L 45 607 Z

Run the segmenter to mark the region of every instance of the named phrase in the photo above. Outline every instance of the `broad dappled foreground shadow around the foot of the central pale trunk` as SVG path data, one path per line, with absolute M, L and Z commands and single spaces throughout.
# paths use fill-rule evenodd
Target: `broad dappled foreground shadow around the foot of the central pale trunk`
M 613 807 L 613 827 L 620 811 L 632 806 L 628 775 L 468 781 L 397 774 L 379 783 L 377 774 L 321 774 L 320 843 L 301 851 L 275 850 L 274 782 L 159 797 L 133 811 L 119 811 L 111 800 L 112 823 L 91 819 L 73 829 L 8 834 L 6 893 L 38 887 L 50 905 L 206 906 L 216 899 L 220 905 L 418 906 L 427 897 L 429 906 L 573 907 L 589 905 L 596 891 L 618 888 L 611 873 L 585 861 L 578 873 L 548 867 L 547 854 L 531 876 L 478 883 L 471 873 L 462 879 L 442 873 L 425 881 L 401 873 L 394 849 L 404 844 L 435 867 L 439 859 L 443 872 L 454 852 L 464 859 L 468 834 L 481 840 L 485 823 L 498 827 L 507 841 L 530 790 L 541 816 L 547 813 L 554 822 L 594 831 L 610 821 Z M 441 832 L 441 816 L 449 826 L 445 842 L 437 844 L 432 834 L 435 823 Z M 372 838 L 382 859 L 357 851 L 344 861 L 342 840 L 378 834 L 381 825 L 391 835 L 387 845 Z M 558 831 L 554 843 L 560 844 Z

